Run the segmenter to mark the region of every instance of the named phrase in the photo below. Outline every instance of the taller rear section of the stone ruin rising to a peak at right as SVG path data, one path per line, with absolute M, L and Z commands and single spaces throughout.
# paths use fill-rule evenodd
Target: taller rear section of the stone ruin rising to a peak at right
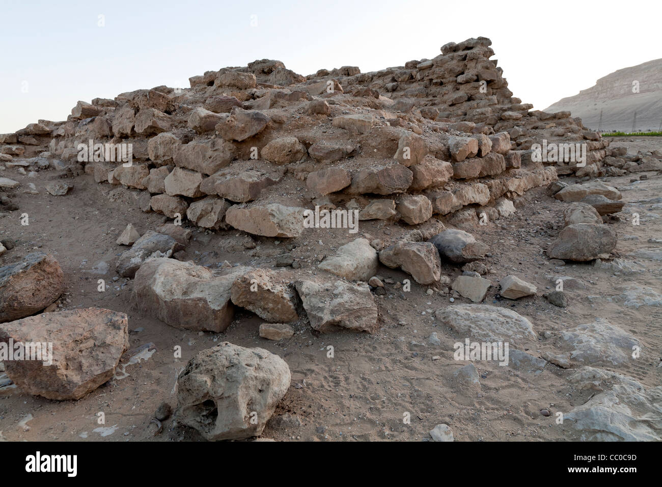
M 586 143 L 584 168 L 577 168 L 573 162 L 544 164 L 557 166 L 558 174 L 618 175 L 602 164 L 611 155 L 608 140 L 587 130 L 581 119 L 571 118 L 567 111 L 532 111 L 533 105 L 513 97 L 497 61 L 489 59 L 494 55 L 491 43 L 485 37 L 459 44 L 449 42 L 442 47 L 442 54 L 432 60 L 413 60 L 403 67 L 349 74 L 338 79 L 348 89 L 359 89 L 359 85 L 385 93 L 397 100 L 396 107 L 402 111 L 418 111 L 436 121 L 470 121 L 476 124 L 472 129 L 475 133 L 508 132 L 516 150 L 530 150 L 532 144 L 543 139 L 548 143 Z M 324 76 L 326 70 L 320 70 L 313 78 Z M 528 154 L 521 155 L 526 158 Z

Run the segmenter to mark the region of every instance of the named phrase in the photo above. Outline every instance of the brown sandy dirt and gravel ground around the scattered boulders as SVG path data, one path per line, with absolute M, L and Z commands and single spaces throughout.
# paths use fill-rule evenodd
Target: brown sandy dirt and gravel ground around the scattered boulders
M 612 146 L 616 145 L 626 145 L 632 153 L 661 148 L 659 139 L 653 138 L 613 140 Z M 637 254 L 639 250 L 652 250 L 653 255 L 662 252 L 662 176 L 644 174 L 648 179 L 636 182 L 630 180 L 639 173 L 605 179 L 622 191 L 626 201 L 619 218 L 609 222 L 618 233 L 612 257 L 632 264 L 633 272 L 600 270 L 590 262 L 563 266 L 550 262 L 545 248 L 563 228 L 562 211 L 569 203 L 548 196 L 545 188 L 528 191 L 518 202 L 515 215 L 473 229 L 473 235 L 491 249 L 485 260 L 489 273 L 483 277 L 491 280 L 493 287 L 485 303 L 508 307 L 530 319 L 538 343 L 528 353 L 540 356 L 554 350 L 545 332 L 555 336 L 602 317 L 632 333 L 643 345 L 641 358 L 634 365 L 628 362 L 603 368 L 632 376 L 645 387 L 661 383 L 662 302 L 643 299 L 638 307 L 624 305 L 628 296 L 651 296 L 649 290 L 652 296 L 662 294 L 662 261 Z M 222 341 L 267 349 L 289 364 L 292 386 L 263 431 L 263 438 L 420 441 L 429 439 L 428 431 L 435 425 L 446 423 L 455 441 L 579 439 L 573 430 L 555 422 L 555 412 L 569 411 L 588 400 L 586 393 L 571 389 L 567 377 L 573 370 L 547 363 L 541 372 L 528 372 L 496 362 L 478 362 L 480 384 L 468 384 L 453 376 L 464 364 L 453 360 L 453 344 L 461 337 L 438 325 L 434 311 L 470 301 L 455 298 L 451 302 L 444 286 L 428 294 L 429 286 L 413 280 L 410 292 L 387 284 L 385 296 L 375 296 L 381 328 L 374 335 L 348 331 L 320 334 L 303 318 L 293 324 L 293 338 L 273 342 L 259 337 L 258 327 L 263 321 L 247 311 L 239 311 L 224 333 L 175 329 L 138 313 L 131 296 L 132 280 L 119 278 L 114 267 L 115 257 L 126 248 L 115 244 L 124 227 L 132 223 L 142 233 L 165 221 L 162 215 L 142 213 L 122 197 L 109 197 L 109 187 L 95 184 L 91 176 L 76 178 L 73 191 L 59 197 L 44 191 L 52 178 L 48 171 L 35 178 L 15 170 L 5 171 L 3 176 L 24 184 L 32 182 L 39 194 L 17 191 L 13 201 L 19 210 L 0 215 L 0 238 L 15 243 L 15 248 L 0 256 L 0 265 L 36 249 L 51 252 L 66 276 L 66 294 L 58 300 L 60 309 L 123 311 L 129 317 L 130 329 L 130 350 L 122 356 L 116 378 L 81 400 L 58 402 L 13 388 L 0 389 L 0 432 L 7 440 L 201 439 L 196 431 L 171 419 L 164 421 L 162 433 L 155 435 L 156 425 L 150 420 L 162 402 L 175 406 L 177 374 L 187 360 Z M 28 226 L 21 225 L 23 213 L 29 215 Z M 639 214 L 640 225 L 633 225 L 632 213 Z M 194 228 L 185 259 L 211 268 L 224 260 L 274 266 L 277 256 L 290 251 L 302 262 L 301 269 L 290 272 L 308 274 L 317 272 L 316 264 L 341 244 L 366 235 L 391 239 L 409 229 L 399 223 L 361 221 L 359 233 L 354 235 L 346 230 L 308 229 L 294 243 L 256 238 L 246 245 L 241 236 L 245 234 L 237 231 L 211 233 Z M 383 266 L 379 274 L 396 283 L 410 278 Z M 461 274 L 460 266 L 444 264 L 442 274 L 453 280 Z M 498 281 L 507 274 L 536 285 L 536 296 L 517 301 L 500 298 Z M 555 307 L 542 296 L 554 289 L 559 276 L 581 281 L 581 286 L 565 289 L 567 308 Z M 97 291 L 99 279 L 107 283 L 105 292 Z M 433 332 L 439 345 L 428 340 Z M 175 357 L 177 346 L 181 347 L 181 358 Z M 140 360 L 130 360 L 138 353 Z M 130 361 L 137 363 L 127 364 Z M 544 408 L 551 415 L 542 415 Z M 99 413 L 105 415 L 104 424 L 99 424 Z M 407 413 L 410 423 L 403 423 Z

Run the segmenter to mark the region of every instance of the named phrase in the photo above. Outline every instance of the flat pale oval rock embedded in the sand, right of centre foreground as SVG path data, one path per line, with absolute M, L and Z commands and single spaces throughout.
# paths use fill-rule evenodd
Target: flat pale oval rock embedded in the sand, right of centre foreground
M 441 325 L 451 327 L 462 338 L 481 342 L 517 345 L 535 341 L 531 322 L 510 309 L 485 304 L 458 304 L 434 313 Z

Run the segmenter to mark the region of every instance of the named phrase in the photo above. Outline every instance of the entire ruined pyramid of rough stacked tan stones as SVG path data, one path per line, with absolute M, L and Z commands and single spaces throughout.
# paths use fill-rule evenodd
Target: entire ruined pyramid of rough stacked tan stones
M 450 42 L 434 59 L 371 73 L 345 66 L 301 76 L 256 60 L 193 76 L 188 89 L 79 101 L 66 121 L 0 135 L 0 152 L 8 164 L 35 158 L 128 188 L 143 211 L 272 237 L 299 230 L 281 228 L 291 211 L 275 217 L 267 203 L 337 206 L 361 196 L 371 205 L 361 207 L 365 218 L 473 219 L 465 207 L 497 218 L 495 208 L 510 204 L 502 198 L 557 175 L 613 171 L 602 167 L 608 141 L 581 120 L 531 111 L 512 95 L 490 44 Z M 585 144 L 585 164 L 536 158 L 532 146 L 543 141 Z M 389 201 L 370 201 L 377 196 Z M 260 219 L 268 230 L 250 223 Z

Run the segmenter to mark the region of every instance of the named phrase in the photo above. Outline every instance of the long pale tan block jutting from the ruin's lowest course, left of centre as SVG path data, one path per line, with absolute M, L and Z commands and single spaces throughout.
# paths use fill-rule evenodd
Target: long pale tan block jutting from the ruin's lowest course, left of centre
M 303 232 L 305 209 L 270 203 L 268 205 L 234 205 L 225 213 L 228 225 L 265 237 L 299 237 Z

